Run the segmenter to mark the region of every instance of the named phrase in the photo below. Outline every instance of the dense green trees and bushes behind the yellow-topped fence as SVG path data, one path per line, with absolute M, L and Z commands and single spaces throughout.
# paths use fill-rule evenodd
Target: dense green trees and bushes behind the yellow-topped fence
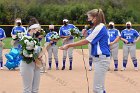
M 124 24 L 126 21 L 138 23 L 138 17 L 127 8 L 125 0 L 0 0 L 0 25 L 14 24 L 17 17 L 28 24 L 30 17 L 36 17 L 40 24 L 62 25 L 67 18 L 73 24 L 86 24 L 85 13 L 101 8 L 106 22 Z M 6 28 L 9 29 L 9 28 Z M 11 28 L 10 28 L 11 29 Z M 9 30 L 10 30 L 9 29 Z

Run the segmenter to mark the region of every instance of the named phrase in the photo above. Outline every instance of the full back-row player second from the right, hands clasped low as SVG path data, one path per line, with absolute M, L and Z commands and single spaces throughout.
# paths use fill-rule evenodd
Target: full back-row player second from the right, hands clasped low
M 114 60 L 115 69 L 114 71 L 118 71 L 118 49 L 119 49 L 119 39 L 120 39 L 120 32 L 119 30 L 115 29 L 114 22 L 109 22 L 109 36 L 110 36 L 110 50 L 111 56 Z

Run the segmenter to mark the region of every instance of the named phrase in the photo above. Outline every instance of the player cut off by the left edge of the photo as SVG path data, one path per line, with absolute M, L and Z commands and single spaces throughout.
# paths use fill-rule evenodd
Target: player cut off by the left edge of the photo
M 3 69 L 3 58 L 2 58 L 2 50 L 3 50 L 3 40 L 6 38 L 5 31 L 0 28 L 0 69 Z

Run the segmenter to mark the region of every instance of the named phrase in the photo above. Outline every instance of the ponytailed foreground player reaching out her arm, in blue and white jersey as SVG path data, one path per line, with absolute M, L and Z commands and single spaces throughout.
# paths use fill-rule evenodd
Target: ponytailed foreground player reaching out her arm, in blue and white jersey
M 94 93 L 105 92 L 105 75 L 110 64 L 110 48 L 109 48 L 109 35 L 105 26 L 104 13 L 101 9 L 93 9 L 87 12 L 88 21 L 92 26 L 92 33 L 84 40 L 75 43 L 67 44 L 60 49 L 66 50 L 70 47 L 81 46 L 91 43 L 94 62 Z M 95 28 L 94 28 L 95 27 Z

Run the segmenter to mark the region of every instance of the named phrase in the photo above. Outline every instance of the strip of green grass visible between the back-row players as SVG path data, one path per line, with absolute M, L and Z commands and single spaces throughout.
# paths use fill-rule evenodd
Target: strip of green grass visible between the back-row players
M 6 38 L 5 40 L 4 40 L 4 48 L 5 49 L 10 49 L 12 46 L 11 46 L 11 38 Z M 75 39 L 75 41 L 78 41 L 79 39 Z M 43 39 L 43 41 L 42 41 L 42 44 L 44 44 L 45 43 L 45 40 Z M 62 45 L 62 40 L 60 40 L 58 43 L 58 46 L 61 46 Z M 122 45 L 123 45 L 123 42 L 122 41 L 119 41 L 119 47 L 120 47 L 120 49 L 122 49 Z M 76 47 L 76 48 L 81 48 L 81 46 L 79 46 L 79 47 Z M 83 48 L 84 49 L 87 49 L 88 47 L 87 47 L 87 45 L 84 45 L 83 46 Z M 137 49 L 140 49 L 140 41 L 139 42 L 137 42 Z

